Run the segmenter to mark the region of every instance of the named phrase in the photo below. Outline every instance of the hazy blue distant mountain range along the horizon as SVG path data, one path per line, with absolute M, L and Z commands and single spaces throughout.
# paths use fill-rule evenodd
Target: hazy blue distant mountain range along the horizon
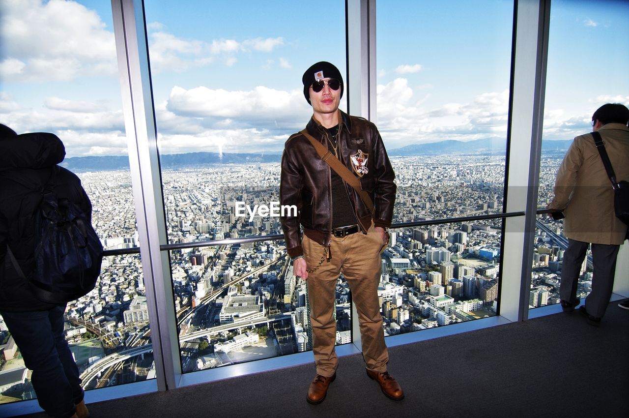
M 542 153 L 564 154 L 572 140 L 542 142 Z M 411 157 L 419 155 L 500 155 L 505 149 L 504 138 L 487 138 L 472 141 L 445 140 L 428 144 L 413 144 L 388 150 L 390 157 Z M 186 154 L 160 155 L 160 165 L 165 169 L 209 166 L 212 164 L 247 164 L 259 162 L 279 162 L 281 154 L 244 154 L 224 152 L 189 152 Z M 70 157 L 60 164 L 71 171 L 106 171 L 129 168 L 126 155 L 103 155 L 101 157 Z

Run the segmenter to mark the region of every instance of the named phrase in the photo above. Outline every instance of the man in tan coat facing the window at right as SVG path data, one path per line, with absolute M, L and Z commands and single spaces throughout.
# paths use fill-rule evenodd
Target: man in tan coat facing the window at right
M 620 104 L 601 106 L 592 116 L 610 157 L 616 180 L 629 180 L 629 110 Z M 577 281 L 587 246 L 592 244 L 592 291 L 579 310 L 590 324 L 601 322 L 614 285 L 616 256 L 627 225 L 614 212 L 614 191 L 591 133 L 574 138 L 557 172 L 555 198 L 548 208 L 564 210 L 564 252 L 559 297 L 564 312 L 579 305 Z

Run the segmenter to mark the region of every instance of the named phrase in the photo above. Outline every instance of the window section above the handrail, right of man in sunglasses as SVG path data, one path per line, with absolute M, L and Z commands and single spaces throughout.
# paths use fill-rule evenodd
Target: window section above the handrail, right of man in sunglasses
M 502 212 L 513 2 L 391 1 L 376 16 L 394 222 Z

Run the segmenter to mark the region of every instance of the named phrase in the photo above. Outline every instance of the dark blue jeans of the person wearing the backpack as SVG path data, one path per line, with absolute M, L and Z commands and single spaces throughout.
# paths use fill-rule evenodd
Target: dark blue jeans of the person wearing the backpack
M 71 417 L 83 400 L 79 368 L 64 338 L 64 307 L 38 312 L 1 312 L 18 345 L 40 407 L 53 417 Z

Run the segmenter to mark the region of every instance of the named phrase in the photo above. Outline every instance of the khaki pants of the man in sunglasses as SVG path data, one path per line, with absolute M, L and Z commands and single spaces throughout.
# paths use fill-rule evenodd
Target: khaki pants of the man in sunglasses
M 323 246 L 306 235 L 301 244 L 308 268 L 314 268 L 321 261 Z M 337 324 L 333 312 L 336 309 L 335 290 L 339 273 L 343 273 L 350 285 L 352 300 L 358 311 L 365 365 L 372 371 L 387 370 L 389 354 L 384 344 L 377 293 L 381 278 L 380 249 L 383 245 L 373 227 L 367 235 L 357 232 L 343 238 L 332 237 L 331 260 L 324 261 L 315 273 L 308 274 L 306 285 L 318 375 L 331 376 L 337 370 L 338 358 L 334 349 Z

